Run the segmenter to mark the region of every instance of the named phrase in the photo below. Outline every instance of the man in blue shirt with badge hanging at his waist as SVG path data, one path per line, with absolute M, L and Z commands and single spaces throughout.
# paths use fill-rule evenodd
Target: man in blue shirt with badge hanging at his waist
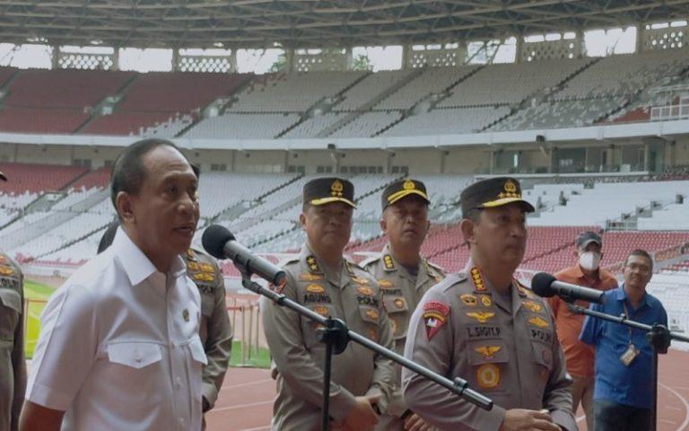
M 635 250 L 624 262 L 624 284 L 608 290 L 591 310 L 667 327 L 662 303 L 646 293 L 653 274 L 648 252 Z M 653 407 L 653 349 L 646 332 L 587 316 L 581 341 L 596 347 L 594 426 L 596 431 L 648 431 Z

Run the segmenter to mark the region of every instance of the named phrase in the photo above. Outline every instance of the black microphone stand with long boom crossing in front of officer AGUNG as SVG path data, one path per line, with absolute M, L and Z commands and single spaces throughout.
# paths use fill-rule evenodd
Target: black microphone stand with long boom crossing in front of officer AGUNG
M 236 262 L 235 265 L 237 265 Z M 340 353 L 344 352 L 350 340 L 362 345 L 363 347 L 373 350 L 379 355 L 391 359 L 393 362 L 396 362 L 399 365 L 409 368 L 416 374 L 423 375 L 423 377 L 431 380 L 432 382 L 440 384 L 440 386 L 447 388 L 449 391 L 452 391 L 453 393 L 462 397 L 464 400 L 475 404 L 481 409 L 493 409 L 493 400 L 469 388 L 469 384 L 466 380 L 459 377 L 455 377 L 454 381 L 449 380 L 448 378 L 432 372 L 422 365 L 418 365 L 410 361 L 405 356 L 397 355 L 397 353 L 388 350 L 388 348 L 382 347 L 378 343 L 375 343 L 361 334 L 350 330 L 347 328 L 347 325 L 344 321 L 341 321 L 340 319 L 333 319 L 331 317 L 325 318 L 317 312 L 313 312 L 304 307 L 300 303 L 292 301 L 285 295 L 278 294 L 270 289 L 266 289 L 265 287 L 258 285 L 254 281 L 251 281 L 251 273 L 249 272 L 249 268 L 241 265 L 237 265 L 237 268 L 239 268 L 241 272 L 241 286 L 244 286 L 251 292 L 254 292 L 258 295 L 266 296 L 266 298 L 277 303 L 278 305 L 287 307 L 295 312 L 298 312 L 302 316 L 307 317 L 312 321 L 318 321 L 318 323 L 323 325 L 323 329 L 319 330 L 318 332 L 318 340 L 326 344 L 326 358 L 323 369 L 323 416 L 321 422 L 321 429 L 323 431 L 327 431 L 327 429 L 330 427 L 329 408 L 332 356 L 339 355 Z

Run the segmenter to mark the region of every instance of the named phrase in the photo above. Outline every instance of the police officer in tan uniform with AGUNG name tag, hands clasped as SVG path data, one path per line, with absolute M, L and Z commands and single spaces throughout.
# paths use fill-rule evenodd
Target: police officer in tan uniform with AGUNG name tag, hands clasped
M 348 180 L 320 178 L 303 189 L 300 223 L 307 243 L 283 265 L 287 281 L 275 290 L 322 316 L 345 321 L 349 329 L 393 348 L 388 316 L 374 277 L 343 258 L 352 230 L 354 187 Z M 318 324 L 267 301 L 263 325 L 275 361 L 275 431 L 320 429 L 326 347 Z M 330 386 L 332 429 L 371 430 L 388 407 L 394 374 L 390 360 L 350 342 L 333 356 Z

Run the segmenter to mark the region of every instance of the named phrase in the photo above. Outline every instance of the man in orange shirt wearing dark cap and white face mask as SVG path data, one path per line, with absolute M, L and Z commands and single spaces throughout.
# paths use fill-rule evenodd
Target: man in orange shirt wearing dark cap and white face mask
M 576 244 L 577 264 L 556 273 L 555 277 L 565 283 L 604 291 L 617 287 L 615 277 L 605 269 L 599 268 L 600 260 L 603 258 L 601 252 L 603 241 L 600 235 L 595 232 L 580 233 Z M 581 402 L 586 413 L 587 428 L 592 431 L 595 354 L 593 347 L 579 340 L 585 316 L 571 312 L 567 303 L 558 296 L 550 298 L 548 303 L 555 315 L 557 337 L 563 346 L 567 372 L 571 374 L 574 381 L 570 386 L 572 410 L 576 412 Z M 576 304 L 589 308 L 589 303 L 586 301 L 578 300 Z

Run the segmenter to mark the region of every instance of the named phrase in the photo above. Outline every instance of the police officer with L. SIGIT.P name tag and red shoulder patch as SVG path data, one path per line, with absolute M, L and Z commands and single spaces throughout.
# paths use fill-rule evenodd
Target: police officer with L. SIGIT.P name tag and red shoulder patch
M 527 243 L 519 182 L 478 181 L 461 195 L 467 273 L 433 286 L 412 315 L 405 356 L 494 401 L 484 410 L 403 370 L 409 408 L 443 430 L 568 431 L 571 412 L 563 351 L 545 301 L 513 278 Z

